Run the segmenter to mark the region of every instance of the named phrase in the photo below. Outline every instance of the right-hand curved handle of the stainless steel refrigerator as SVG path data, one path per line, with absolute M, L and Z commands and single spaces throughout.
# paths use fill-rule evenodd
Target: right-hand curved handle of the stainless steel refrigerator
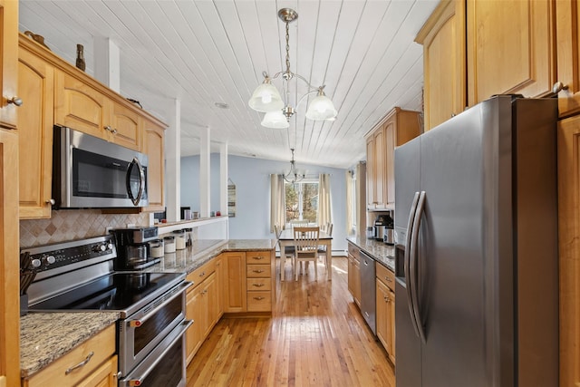
M 419 203 L 417 204 L 417 210 L 415 211 L 415 216 L 413 219 L 413 229 L 411 235 L 411 256 L 409 257 L 409 269 L 410 269 L 410 279 L 411 279 L 411 305 L 413 309 L 413 319 L 417 325 L 418 336 L 422 343 L 426 343 L 427 339 L 425 337 L 425 330 L 423 328 L 420 309 L 419 309 L 419 272 L 418 272 L 418 259 L 417 250 L 419 248 L 419 230 L 420 230 L 420 219 L 423 215 L 423 210 L 425 209 L 425 191 L 420 192 Z

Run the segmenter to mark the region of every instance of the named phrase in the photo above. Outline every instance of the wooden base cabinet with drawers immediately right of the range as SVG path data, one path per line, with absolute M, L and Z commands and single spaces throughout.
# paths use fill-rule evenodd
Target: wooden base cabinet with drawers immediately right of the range
M 187 280 L 193 285 L 188 289 L 186 317 L 192 320 L 186 333 L 187 363 L 191 362 L 209 332 L 218 323 L 219 295 L 216 262 L 207 264 L 191 272 Z

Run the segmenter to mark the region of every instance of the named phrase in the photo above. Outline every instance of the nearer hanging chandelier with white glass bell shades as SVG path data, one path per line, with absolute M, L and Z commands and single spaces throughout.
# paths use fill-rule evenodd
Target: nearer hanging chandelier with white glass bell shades
M 252 93 L 252 98 L 248 102 L 249 107 L 255 111 L 266 113 L 264 120 L 262 120 L 262 126 L 273 129 L 288 128 L 290 126 L 290 118 L 296 112 L 295 108 L 290 105 L 290 88 L 288 82 L 293 78 L 298 78 L 308 85 L 308 92 L 300 98 L 296 105 L 300 104 L 307 95 L 314 92 L 317 93 L 314 100 L 308 104 L 306 118 L 315 121 L 333 121 L 336 117 L 336 109 L 334 109 L 334 104 L 330 98 L 324 94 L 324 85 L 314 87 L 302 75 L 290 71 L 290 34 L 288 33 L 288 25 L 298 18 L 298 14 L 294 9 L 282 8 L 278 11 L 278 17 L 286 24 L 286 70 L 275 73 L 272 78 L 266 72 L 262 73 L 264 82 L 256 87 L 256 90 Z M 285 100 L 282 99 L 280 93 L 272 84 L 272 80 L 280 75 L 282 75 Z

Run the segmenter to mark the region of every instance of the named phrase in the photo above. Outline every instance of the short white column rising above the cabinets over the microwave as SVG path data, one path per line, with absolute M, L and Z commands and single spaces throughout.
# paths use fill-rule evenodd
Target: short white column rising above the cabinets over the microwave
M 121 53 L 107 37 L 94 37 L 94 77 L 115 92 L 121 90 Z

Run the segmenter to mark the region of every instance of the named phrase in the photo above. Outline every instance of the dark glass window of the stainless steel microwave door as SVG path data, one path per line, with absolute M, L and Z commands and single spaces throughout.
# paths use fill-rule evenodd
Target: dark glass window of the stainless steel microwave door
M 73 148 L 73 195 L 92 198 L 129 198 L 129 162 Z

